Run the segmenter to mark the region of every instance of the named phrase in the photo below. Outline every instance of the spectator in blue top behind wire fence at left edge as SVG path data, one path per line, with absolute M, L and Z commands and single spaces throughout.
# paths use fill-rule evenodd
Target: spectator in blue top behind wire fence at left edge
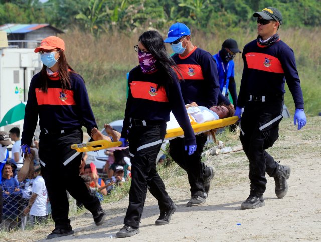
M 2 170 L 2 189 L 3 189 L 3 228 L 12 229 L 18 225 L 19 202 L 22 199 L 22 193 L 19 183 L 13 178 L 13 172 L 10 162 L 6 162 Z

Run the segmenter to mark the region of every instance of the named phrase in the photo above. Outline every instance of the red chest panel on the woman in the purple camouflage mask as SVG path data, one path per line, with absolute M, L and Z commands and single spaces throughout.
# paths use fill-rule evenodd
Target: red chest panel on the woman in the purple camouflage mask
M 168 102 L 164 87 L 157 90 L 158 85 L 153 82 L 132 81 L 130 91 L 134 98 L 148 99 L 155 102 Z

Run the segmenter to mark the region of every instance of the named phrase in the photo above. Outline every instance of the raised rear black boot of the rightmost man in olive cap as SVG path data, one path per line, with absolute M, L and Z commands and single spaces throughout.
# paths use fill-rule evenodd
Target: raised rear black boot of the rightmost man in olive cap
M 285 197 L 287 191 L 289 190 L 289 185 L 287 184 L 287 179 L 290 177 L 291 168 L 286 165 L 278 165 L 274 175 L 275 181 L 275 194 L 277 198 Z

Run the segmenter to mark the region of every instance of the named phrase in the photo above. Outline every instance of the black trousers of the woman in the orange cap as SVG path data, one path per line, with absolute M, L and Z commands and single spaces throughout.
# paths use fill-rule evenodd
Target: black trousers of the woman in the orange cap
M 41 174 L 45 180 L 56 228 L 71 228 L 67 191 L 90 212 L 96 211 L 100 205 L 98 198 L 90 195 L 84 180 L 79 176 L 82 153 L 75 153 L 70 148 L 71 144 L 81 142 L 81 130 L 59 135 L 40 133 Z M 70 160 L 70 157 L 74 158 Z M 69 160 L 67 164 L 66 160 Z

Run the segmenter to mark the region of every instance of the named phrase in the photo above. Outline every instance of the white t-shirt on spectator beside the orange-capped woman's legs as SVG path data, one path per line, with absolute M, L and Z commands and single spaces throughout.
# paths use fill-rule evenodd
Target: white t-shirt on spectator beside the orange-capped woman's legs
M 33 216 L 46 216 L 48 215 L 47 200 L 48 194 L 45 186 L 45 180 L 42 176 L 37 176 L 32 184 L 32 193 L 36 193 L 37 197 L 34 204 L 30 209 L 30 215 Z

